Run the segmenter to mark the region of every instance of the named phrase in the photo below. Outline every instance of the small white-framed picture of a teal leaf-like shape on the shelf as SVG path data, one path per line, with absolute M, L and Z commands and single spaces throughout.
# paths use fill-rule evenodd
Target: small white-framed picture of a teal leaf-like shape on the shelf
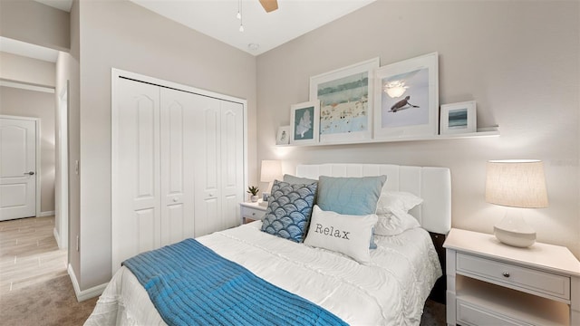
M 290 107 L 290 143 L 318 143 L 320 101 L 307 101 Z

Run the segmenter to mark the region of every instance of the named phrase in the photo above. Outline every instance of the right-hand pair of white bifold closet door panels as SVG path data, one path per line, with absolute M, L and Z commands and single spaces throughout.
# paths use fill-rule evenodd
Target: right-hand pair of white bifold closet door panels
M 243 191 L 243 108 L 231 101 L 196 97 L 199 124 L 196 138 L 196 230 L 208 235 L 239 225 Z M 243 190 L 243 189 L 242 189 Z

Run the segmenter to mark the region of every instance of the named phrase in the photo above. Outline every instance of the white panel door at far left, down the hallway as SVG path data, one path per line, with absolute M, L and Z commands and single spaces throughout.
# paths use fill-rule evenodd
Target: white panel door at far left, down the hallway
M 0 220 L 36 216 L 36 121 L 0 118 Z

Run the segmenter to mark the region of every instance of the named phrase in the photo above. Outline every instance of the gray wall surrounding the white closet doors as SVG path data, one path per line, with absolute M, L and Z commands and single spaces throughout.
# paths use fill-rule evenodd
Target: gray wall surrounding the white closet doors
M 75 273 L 85 290 L 111 278 L 111 68 L 247 99 L 251 181 L 256 179 L 256 57 L 129 1 L 76 4 L 81 255 Z

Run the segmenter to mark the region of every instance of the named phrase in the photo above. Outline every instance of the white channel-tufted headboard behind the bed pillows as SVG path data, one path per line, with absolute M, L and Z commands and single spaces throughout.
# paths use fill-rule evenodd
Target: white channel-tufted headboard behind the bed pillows
M 451 173 L 449 168 L 410 167 L 391 164 L 314 164 L 296 167 L 297 177 L 387 176 L 384 189 L 407 191 L 423 198 L 411 210 L 427 231 L 447 235 L 451 229 Z

